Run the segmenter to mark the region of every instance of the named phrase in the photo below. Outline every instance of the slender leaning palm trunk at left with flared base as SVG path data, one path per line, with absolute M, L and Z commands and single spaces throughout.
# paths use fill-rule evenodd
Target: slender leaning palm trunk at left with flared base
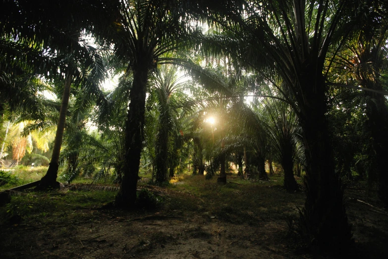
M 42 177 L 39 183 L 38 189 L 59 187 L 59 183 L 56 182 L 56 177 L 57 177 L 58 167 L 59 167 L 60 148 L 62 146 L 63 132 L 65 128 L 65 123 L 66 123 L 66 111 L 67 111 L 67 106 L 69 104 L 69 98 L 70 98 L 71 80 L 72 80 L 72 76 L 67 75 L 64 82 L 62 102 L 60 104 L 59 120 L 58 120 L 58 125 L 56 127 L 53 155 L 51 156 L 49 169 L 47 170 L 46 175 Z

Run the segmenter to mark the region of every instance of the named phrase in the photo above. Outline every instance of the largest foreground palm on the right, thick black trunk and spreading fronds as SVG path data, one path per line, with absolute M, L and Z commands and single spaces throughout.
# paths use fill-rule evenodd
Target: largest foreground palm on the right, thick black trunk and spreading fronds
M 354 27 L 348 11 L 355 5 L 342 0 L 277 0 L 231 1 L 215 8 L 214 3 L 203 3 L 209 6 L 205 14 L 227 33 L 202 36 L 203 51 L 227 53 L 261 73 L 297 113 L 306 157 L 304 232 L 322 249 L 348 247 L 351 233 L 334 172 L 325 91 L 326 65 L 332 65 L 330 60 L 326 63 L 331 58 L 328 51 L 336 53 Z M 288 85 L 287 91 L 277 85 L 276 75 Z

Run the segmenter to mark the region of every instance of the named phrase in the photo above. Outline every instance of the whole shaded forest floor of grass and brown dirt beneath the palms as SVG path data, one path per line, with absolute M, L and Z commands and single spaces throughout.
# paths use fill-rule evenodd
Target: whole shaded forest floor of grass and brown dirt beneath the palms
M 139 182 L 162 199 L 154 209 L 104 206 L 117 187 L 25 192 L 0 208 L 0 258 L 306 259 L 331 258 L 304 248 L 296 233 L 303 191 L 228 176 L 226 185 L 181 175 L 166 188 Z M 388 258 L 388 214 L 366 184 L 345 191 L 354 244 L 340 258 Z M 103 190 L 104 189 L 104 190 Z M 161 195 L 161 196 L 159 196 Z M 368 203 L 368 204 L 367 204 Z

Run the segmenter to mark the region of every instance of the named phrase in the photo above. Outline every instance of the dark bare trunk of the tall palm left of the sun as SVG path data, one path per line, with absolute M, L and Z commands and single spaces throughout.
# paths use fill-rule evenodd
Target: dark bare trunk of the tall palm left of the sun
M 144 114 L 148 66 L 138 65 L 133 71 L 132 88 L 129 93 L 129 109 L 125 122 L 125 161 L 120 191 L 115 205 L 130 207 L 136 201 L 140 155 L 143 148 Z

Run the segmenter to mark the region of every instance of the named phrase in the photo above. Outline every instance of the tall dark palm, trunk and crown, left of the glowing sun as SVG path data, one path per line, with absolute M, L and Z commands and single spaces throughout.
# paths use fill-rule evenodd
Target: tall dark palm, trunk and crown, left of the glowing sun
M 184 17 L 174 0 L 121 1 L 121 15 L 116 22 L 114 52 L 133 72 L 125 125 L 125 164 L 123 181 L 116 205 L 131 206 L 136 200 L 136 186 L 143 147 L 144 114 L 150 71 L 162 58 L 184 42 Z

